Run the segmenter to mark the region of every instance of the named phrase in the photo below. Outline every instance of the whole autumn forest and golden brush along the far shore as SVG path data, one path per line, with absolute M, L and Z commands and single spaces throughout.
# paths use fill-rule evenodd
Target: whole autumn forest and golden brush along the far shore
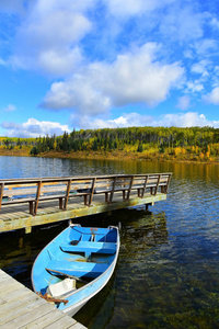
M 219 128 L 129 127 L 73 129 L 62 136 L 0 137 L 3 150 L 28 150 L 31 156 L 118 157 L 219 162 Z

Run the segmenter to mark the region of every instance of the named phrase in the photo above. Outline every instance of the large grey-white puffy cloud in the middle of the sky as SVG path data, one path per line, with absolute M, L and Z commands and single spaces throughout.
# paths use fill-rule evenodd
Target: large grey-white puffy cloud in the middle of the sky
M 148 43 L 117 56 L 113 64 L 91 64 L 70 79 L 53 83 L 43 106 L 96 115 L 129 103 L 155 105 L 168 98 L 171 88 L 178 87 L 184 73 L 177 63 L 155 60 L 159 50 L 159 45 Z

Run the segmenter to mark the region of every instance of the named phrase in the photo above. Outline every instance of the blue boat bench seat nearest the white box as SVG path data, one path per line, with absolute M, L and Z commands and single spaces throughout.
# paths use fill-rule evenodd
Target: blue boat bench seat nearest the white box
M 108 263 L 94 263 L 94 262 L 68 262 L 51 260 L 47 264 L 49 272 L 58 275 L 58 272 L 76 277 L 97 277 L 108 268 Z

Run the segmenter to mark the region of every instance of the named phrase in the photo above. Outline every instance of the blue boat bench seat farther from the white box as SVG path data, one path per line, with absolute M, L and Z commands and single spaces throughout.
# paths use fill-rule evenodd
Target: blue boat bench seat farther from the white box
M 76 246 L 60 245 L 60 248 L 65 252 L 84 252 L 85 256 L 91 252 L 107 254 L 116 252 L 116 245 L 111 242 L 79 241 Z

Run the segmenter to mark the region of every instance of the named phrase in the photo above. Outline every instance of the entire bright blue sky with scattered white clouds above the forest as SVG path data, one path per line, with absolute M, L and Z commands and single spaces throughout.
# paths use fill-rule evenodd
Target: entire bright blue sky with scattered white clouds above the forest
M 219 4 L 0 0 L 0 136 L 219 127 Z

